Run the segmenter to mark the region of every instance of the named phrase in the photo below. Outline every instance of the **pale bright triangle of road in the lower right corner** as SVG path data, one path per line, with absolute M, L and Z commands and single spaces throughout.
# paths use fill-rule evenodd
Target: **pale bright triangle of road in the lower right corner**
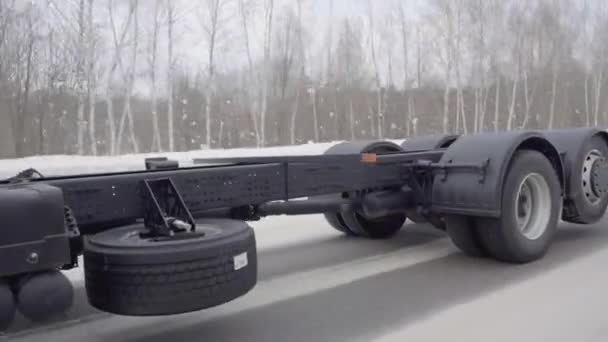
M 397 341 L 608 341 L 608 248 L 425 317 L 376 339 Z

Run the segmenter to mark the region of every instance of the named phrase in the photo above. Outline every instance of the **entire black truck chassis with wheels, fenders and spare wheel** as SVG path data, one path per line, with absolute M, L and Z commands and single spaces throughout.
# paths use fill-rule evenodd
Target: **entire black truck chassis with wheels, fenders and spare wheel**
M 95 308 L 170 315 L 220 305 L 257 281 L 246 221 L 322 213 L 354 237 L 386 239 L 406 219 L 445 230 L 474 257 L 528 263 L 558 221 L 608 206 L 608 134 L 595 128 L 347 142 L 322 156 L 197 160 L 180 168 L 0 181 L 0 328 L 69 309 L 60 270 L 84 259 Z M 288 228 L 286 228 L 288 229 Z

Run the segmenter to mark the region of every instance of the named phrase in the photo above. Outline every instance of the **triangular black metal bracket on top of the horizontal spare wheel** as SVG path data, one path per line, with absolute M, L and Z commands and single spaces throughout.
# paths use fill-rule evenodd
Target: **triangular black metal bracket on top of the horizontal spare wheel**
M 144 225 L 148 237 L 173 236 L 194 231 L 194 218 L 170 178 L 142 182 Z

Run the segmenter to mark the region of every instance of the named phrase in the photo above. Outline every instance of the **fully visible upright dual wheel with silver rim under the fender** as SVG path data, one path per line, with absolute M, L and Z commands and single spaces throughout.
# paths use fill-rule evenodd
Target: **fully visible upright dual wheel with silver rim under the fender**
M 501 217 L 476 220 L 490 255 L 510 263 L 542 258 L 557 229 L 560 193 L 557 173 L 542 153 L 516 152 L 504 181 Z

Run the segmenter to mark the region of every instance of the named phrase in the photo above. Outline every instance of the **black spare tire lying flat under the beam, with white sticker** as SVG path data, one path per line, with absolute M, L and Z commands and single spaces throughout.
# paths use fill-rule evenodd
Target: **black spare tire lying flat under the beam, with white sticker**
M 255 235 L 245 222 L 198 220 L 197 232 L 179 239 L 142 239 L 141 232 L 143 225 L 131 225 L 85 240 L 94 307 L 130 316 L 185 313 L 231 301 L 257 282 Z

